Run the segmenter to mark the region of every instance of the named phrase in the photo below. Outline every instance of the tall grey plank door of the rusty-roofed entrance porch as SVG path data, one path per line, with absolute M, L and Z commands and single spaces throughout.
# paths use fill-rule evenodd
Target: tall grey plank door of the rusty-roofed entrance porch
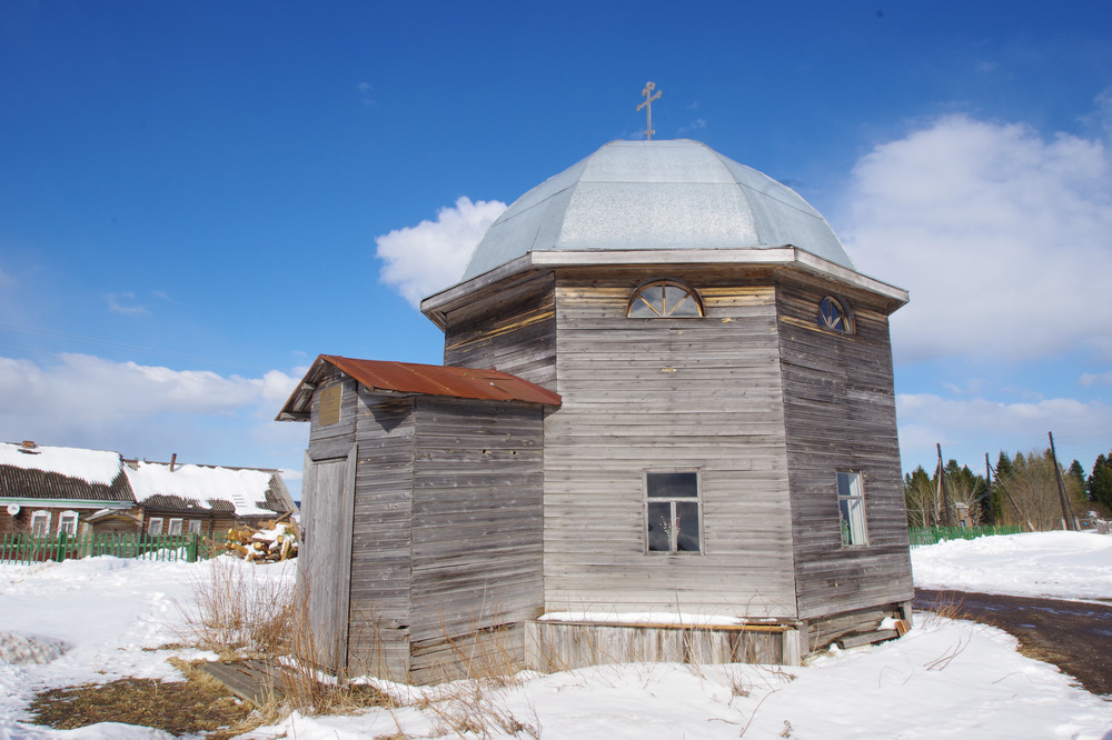
M 357 448 L 347 458 L 305 457 L 298 576 L 306 593 L 311 650 L 332 673 L 347 668 L 351 593 L 351 519 L 355 511 Z

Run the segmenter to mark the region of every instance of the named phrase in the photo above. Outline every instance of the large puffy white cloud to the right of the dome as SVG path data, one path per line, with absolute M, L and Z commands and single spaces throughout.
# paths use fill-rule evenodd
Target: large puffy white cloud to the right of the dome
M 902 361 L 1112 353 L 1112 158 L 1100 141 L 943 118 L 857 162 L 847 226 L 858 269 L 911 292 L 893 317 Z

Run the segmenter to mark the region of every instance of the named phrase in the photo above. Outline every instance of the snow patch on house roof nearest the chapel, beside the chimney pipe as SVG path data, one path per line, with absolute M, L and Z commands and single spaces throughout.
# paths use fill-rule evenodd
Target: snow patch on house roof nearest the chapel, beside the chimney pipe
M 140 461 L 137 469 L 125 470 L 136 500 L 142 503 L 152 496 L 177 496 L 199 506 L 210 508 L 209 499 L 231 501 L 240 517 L 272 517 L 274 511 L 261 509 L 271 473 L 262 470 L 236 470 L 207 466 L 170 466 Z

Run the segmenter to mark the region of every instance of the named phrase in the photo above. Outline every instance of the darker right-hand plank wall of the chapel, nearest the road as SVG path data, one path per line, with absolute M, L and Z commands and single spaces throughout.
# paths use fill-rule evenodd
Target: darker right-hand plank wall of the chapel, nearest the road
M 800 616 L 909 600 L 907 519 L 886 312 L 843 296 L 856 330 L 818 327 L 830 288 L 793 276 L 777 300 Z M 843 548 L 838 470 L 864 473 L 867 547 Z

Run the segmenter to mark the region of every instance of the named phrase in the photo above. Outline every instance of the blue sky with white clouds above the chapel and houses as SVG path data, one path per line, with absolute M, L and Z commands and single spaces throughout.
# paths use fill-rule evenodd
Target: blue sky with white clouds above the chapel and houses
M 647 80 L 656 138 L 795 188 L 911 292 L 905 469 L 1112 449 L 1106 2 L 7 0 L 0 440 L 296 488 L 307 426 L 271 419 L 312 358 L 439 362 L 411 298 L 638 138 Z

